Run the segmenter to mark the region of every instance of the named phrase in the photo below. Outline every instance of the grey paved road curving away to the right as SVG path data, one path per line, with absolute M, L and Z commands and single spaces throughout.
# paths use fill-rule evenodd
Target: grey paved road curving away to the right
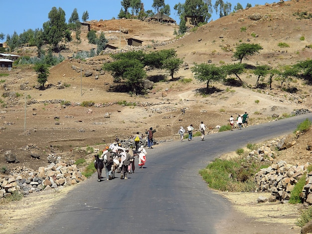
M 215 234 L 229 202 L 198 175 L 218 155 L 292 132 L 312 114 L 167 142 L 149 149 L 146 168 L 128 180 L 82 182 L 33 227 L 33 234 Z M 137 163 L 137 161 L 136 161 Z M 118 176 L 120 174 L 117 174 Z M 29 231 L 28 231 L 29 232 Z

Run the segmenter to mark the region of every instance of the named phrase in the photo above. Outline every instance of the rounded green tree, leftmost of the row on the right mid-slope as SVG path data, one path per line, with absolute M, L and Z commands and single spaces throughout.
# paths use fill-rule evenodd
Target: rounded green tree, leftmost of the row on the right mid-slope
M 195 63 L 194 67 L 191 68 L 191 71 L 196 80 L 207 82 L 206 94 L 208 94 L 210 82 L 220 81 L 226 77 L 224 70 L 214 64 Z

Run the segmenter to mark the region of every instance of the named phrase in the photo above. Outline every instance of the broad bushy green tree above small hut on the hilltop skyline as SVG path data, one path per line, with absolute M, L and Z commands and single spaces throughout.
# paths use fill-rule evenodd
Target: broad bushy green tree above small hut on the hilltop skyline
M 199 23 L 198 16 L 202 16 L 203 22 L 206 21 L 208 8 L 203 0 L 185 0 L 184 15 L 193 16 L 191 24 L 197 25 Z

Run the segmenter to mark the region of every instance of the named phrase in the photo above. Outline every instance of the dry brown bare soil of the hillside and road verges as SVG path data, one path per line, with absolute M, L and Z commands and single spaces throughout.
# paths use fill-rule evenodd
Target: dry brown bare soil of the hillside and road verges
M 118 39 L 109 41 L 115 46 L 124 46 L 123 38 L 130 37 L 143 40 L 143 44 L 167 41 L 167 45 L 152 46 L 150 50 L 174 48 L 178 57 L 183 58 L 190 67 L 194 62 L 202 63 L 209 59 L 214 64 L 232 63 L 236 45 L 239 42 L 251 41 L 261 44 L 263 50 L 243 62 L 247 62 L 251 67 L 268 64 L 278 68 L 312 57 L 312 49 L 306 48 L 306 45 L 312 44 L 312 38 L 309 36 L 311 20 L 297 19 L 298 16 L 294 15 L 295 12 L 303 11 L 311 12 L 312 4 L 305 0 L 292 0 L 280 4 L 260 5 L 209 22 L 173 43 L 169 42 L 174 39 L 174 29 L 178 30 L 176 25 L 123 19 L 91 21 L 91 28 L 104 31 L 106 37 L 115 35 Z M 262 19 L 251 20 L 249 16 L 254 13 L 260 14 Z M 242 27 L 246 27 L 247 30 L 241 31 Z M 120 28 L 129 29 L 129 33 L 123 34 L 122 39 L 119 39 L 118 32 L 109 32 Z M 258 36 L 253 37 L 253 32 Z M 300 40 L 302 36 L 305 36 L 303 41 Z M 279 42 L 286 42 L 290 47 L 280 48 L 277 46 Z M 82 43 L 78 48 L 72 43 L 71 52 L 61 54 L 67 58 L 78 50 L 90 49 L 86 34 L 82 34 Z M 16 53 L 31 55 L 34 51 L 24 48 Z M 145 132 L 145 129 L 151 126 L 157 130 L 157 140 L 178 139 L 176 132 L 181 125 L 186 127 L 192 123 L 197 127 L 200 121 L 204 121 L 210 133 L 216 133 L 216 125 L 228 124 L 231 115 L 236 117 L 245 111 L 249 113 L 248 124 L 253 125 L 274 119 L 273 114 L 286 116 L 295 109 L 311 110 L 312 107 L 311 86 L 301 80 L 286 84 L 286 88 L 298 89 L 296 93 L 291 94 L 281 90 L 280 82 L 276 80 L 272 90 L 265 86 L 263 89 L 255 89 L 253 87 L 257 77 L 245 73 L 241 75 L 241 79 L 248 84 L 247 88 L 215 83 L 212 84 L 213 88 L 210 88 L 211 94 L 203 96 L 200 95 L 200 91 L 206 84 L 195 79 L 189 83 L 181 82 L 183 78 L 192 78 L 190 69 L 183 68 L 175 74 L 175 81 L 168 77 L 166 82 L 155 83 L 153 90 L 145 96 L 107 92 L 110 86 L 114 85 L 113 79 L 109 73 L 101 74 L 98 68 L 109 60 L 111 59 L 108 55 L 96 56 L 86 61 L 66 59 L 50 69 L 48 83 L 51 87 L 45 90 L 34 88 L 37 84 L 36 74 L 28 66 L 14 68 L 8 77 L 2 78 L 10 91 L 21 96 L 14 99 L 1 97 L 5 107 L 0 107 L 0 125 L 4 128 L 0 130 L 0 168 L 13 170 L 17 166 L 25 166 L 36 170 L 47 165 L 47 155 L 52 151 L 60 154 L 64 160 L 77 160 L 86 155 L 74 154 L 72 149 L 75 147 L 109 144 L 114 141 L 115 135 L 121 139 L 128 138 L 137 131 Z M 82 72 L 73 70 L 73 65 Z M 93 75 L 85 77 L 85 71 L 92 71 Z M 163 74 L 163 71 L 148 72 L 149 76 Z M 62 90 L 57 89 L 58 82 L 69 86 Z M 20 90 L 20 85 L 24 83 L 28 83 L 29 90 Z M 4 92 L 2 90 L 2 93 Z M 25 97 L 33 102 L 42 102 L 25 105 Z M 43 103 L 45 100 L 61 99 L 73 105 L 63 108 L 60 103 Z M 116 103 L 124 100 L 136 102 L 138 105 L 129 107 Z M 259 100 L 259 103 L 256 103 L 256 100 Z M 74 105 L 82 102 L 105 104 L 105 107 Z M 180 111 L 183 108 L 185 115 Z M 104 118 L 105 113 L 109 113 L 110 118 Z M 54 117 L 59 117 L 59 120 Z M 294 147 L 281 151 L 276 160 L 283 158 L 288 163 L 306 163 L 311 157 L 306 145 L 311 139 L 312 133 L 309 131 L 297 140 Z M 27 148 L 27 145 L 36 147 Z M 20 163 L 6 163 L 3 156 L 6 150 L 15 153 Z M 32 159 L 31 150 L 40 153 L 40 159 Z M 40 193 L 19 202 L 2 204 L 0 233 L 17 232 L 17 224 L 19 227 L 27 225 L 24 219 L 27 214 L 33 214 L 33 220 L 39 218 L 36 212 L 38 209 L 48 208 L 71 188 L 73 187 L 52 192 L 52 195 Z M 220 221 L 220 233 L 268 233 L 264 227 L 270 227 L 271 233 L 278 233 L 272 229 L 273 226 L 278 227 L 280 233 L 299 233 L 298 228 L 294 228 L 294 223 L 299 217 L 297 206 L 257 204 L 259 194 L 255 193 L 221 195 L 229 199 L 238 213 Z M 40 199 L 37 199 L 37 196 Z M 244 199 L 241 199 L 241 196 L 244 196 Z M 227 224 L 227 229 L 222 225 L 223 222 Z

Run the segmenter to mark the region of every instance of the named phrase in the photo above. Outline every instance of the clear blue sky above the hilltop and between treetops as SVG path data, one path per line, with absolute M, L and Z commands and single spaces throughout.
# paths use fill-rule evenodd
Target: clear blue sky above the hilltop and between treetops
M 141 0 L 144 3 L 145 10 L 152 9 L 155 12 L 155 9 L 152 7 L 153 0 Z M 266 2 L 272 3 L 273 0 L 224 0 L 225 2 L 231 2 L 232 10 L 233 7 L 239 2 L 244 8 L 247 3 L 251 3 L 252 6 L 255 4 L 264 5 Z M 277 0 L 278 1 L 278 0 Z M 68 22 L 71 13 L 74 8 L 77 8 L 79 18 L 84 11 L 88 11 L 89 20 L 92 19 L 112 19 L 113 17 L 118 18 L 118 14 L 121 6 L 121 0 L 14 0 L 13 5 L 10 6 L 9 2 L 6 2 L 3 5 L 1 10 L 1 19 L 2 23 L 0 26 L 0 33 L 12 35 L 14 31 L 17 34 L 22 33 L 24 30 L 29 28 L 36 29 L 42 28 L 42 24 L 48 21 L 48 13 L 53 6 L 56 8 L 61 7 L 66 14 L 66 22 Z M 170 17 L 177 19 L 178 17 L 175 14 L 173 9 L 174 5 L 178 2 L 184 3 L 185 0 L 165 0 L 165 4 L 170 5 L 171 14 Z M 215 0 L 211 1 L 212 4 L 215 3 Z M 218 16 L 214 13 L 212 19 L 216 20 Z M 5 39 L 5 38 L 4 38 Z

